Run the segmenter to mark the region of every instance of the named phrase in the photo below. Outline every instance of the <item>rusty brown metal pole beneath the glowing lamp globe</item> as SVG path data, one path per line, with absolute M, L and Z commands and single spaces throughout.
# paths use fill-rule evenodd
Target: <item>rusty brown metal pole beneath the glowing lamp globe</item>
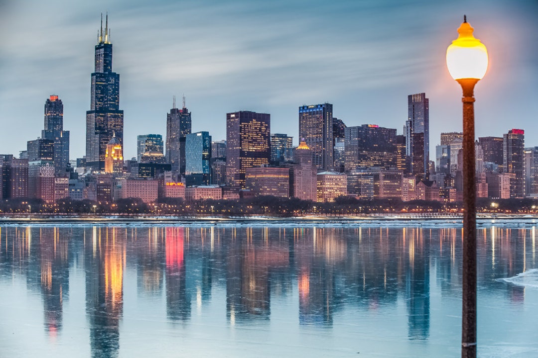
M 475 97 L 478 79 L 458 79 L 463 90 L 462 358 L 476 358 Z

